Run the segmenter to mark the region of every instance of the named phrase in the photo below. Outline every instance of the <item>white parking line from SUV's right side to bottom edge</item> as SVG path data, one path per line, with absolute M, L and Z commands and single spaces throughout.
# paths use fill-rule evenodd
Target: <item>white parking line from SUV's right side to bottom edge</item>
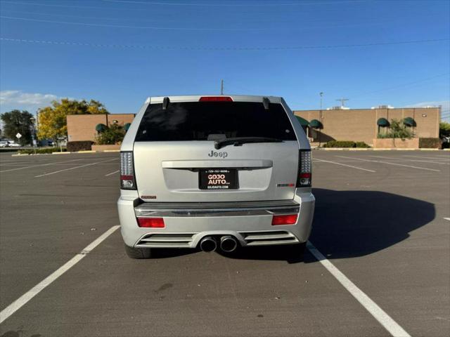
M 359 289 L 352 281 L 350 281 L 333 263 L 330 262 L 323 254 L 316 249 L 311 242 L 307 243 L 307 248 L 312 255 L 330 272 L 335 279 L 352 294 L 356 300 L 381 324 L 392 336 L 395 337 L 411 337 L 397 322 L 387 315 L 387 313 L 378 306 L 364 291 Z

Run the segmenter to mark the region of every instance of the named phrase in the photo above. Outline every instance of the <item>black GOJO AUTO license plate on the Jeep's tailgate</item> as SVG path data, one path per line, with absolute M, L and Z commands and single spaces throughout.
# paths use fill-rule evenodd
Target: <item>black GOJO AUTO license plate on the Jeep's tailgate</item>
M 204 169 L 198 171 L 198 188 L 200 190 L 223 191 L 237 190 L 237 169 Z

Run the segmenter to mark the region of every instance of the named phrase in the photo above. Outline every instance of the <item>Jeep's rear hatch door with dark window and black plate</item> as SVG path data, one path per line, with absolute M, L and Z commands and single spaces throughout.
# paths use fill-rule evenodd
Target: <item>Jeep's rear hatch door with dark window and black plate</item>
M 229 138 L 233 141 L 217 146 Z M 293 199 L 298 150 L 280 103 L 150 104 L 134 143 L 139 197 L 157 202 Z

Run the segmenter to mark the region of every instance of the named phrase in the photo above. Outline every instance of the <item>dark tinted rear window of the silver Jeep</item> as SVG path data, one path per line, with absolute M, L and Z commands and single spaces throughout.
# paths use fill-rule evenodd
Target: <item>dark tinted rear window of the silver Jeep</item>
M 268 137 L 297 140 L 281 104 L 252 102 L 184 102 L 148 105 L 136 142 Z

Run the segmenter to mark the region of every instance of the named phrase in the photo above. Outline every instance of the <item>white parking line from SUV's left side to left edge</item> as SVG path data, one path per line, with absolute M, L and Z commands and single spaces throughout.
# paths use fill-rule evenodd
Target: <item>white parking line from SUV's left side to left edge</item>
M 110 227 L 109 230 L 101 234 L 100 237 L 95 239 L 91 244 L 86 246 L 85 249 L 83 249 L 80 253 L 77 253 L 73 258 L 71 258 L 67 263 L 62 265 L 58 268 L 55 272 L 51 273 L 48 277 L 43 279 L 41 282 L 36 284 L 32 287 L 29 291 L 24 293 L 22 296 L 20 296 L 17 300 L 15 300 L 13 303 L 8 305 L 4 310 L 1 310 L 0 312 L 0 324 L 4 322 L 5 319 L 13 315 L 14 312 L 19 310 L 23 307 L 29 300 L 31 300 L 34 296 L 36 296 L 38 293 L 40 293 L 42 290 L 44 290 L 47 286 L 49 286 L 53 281 L 58 279 L 61 275 L 63 275 L 65 272 L 67 272 L 71 267 L 79 263 L 82 258 L 84 258 L 87 254 L 89 254 L 96 246 L 101 244 L 103 240 L 105 240 L 107 237 L 110 236 L 110 234 L 113 234 L 119 228 L 119 225 Z

